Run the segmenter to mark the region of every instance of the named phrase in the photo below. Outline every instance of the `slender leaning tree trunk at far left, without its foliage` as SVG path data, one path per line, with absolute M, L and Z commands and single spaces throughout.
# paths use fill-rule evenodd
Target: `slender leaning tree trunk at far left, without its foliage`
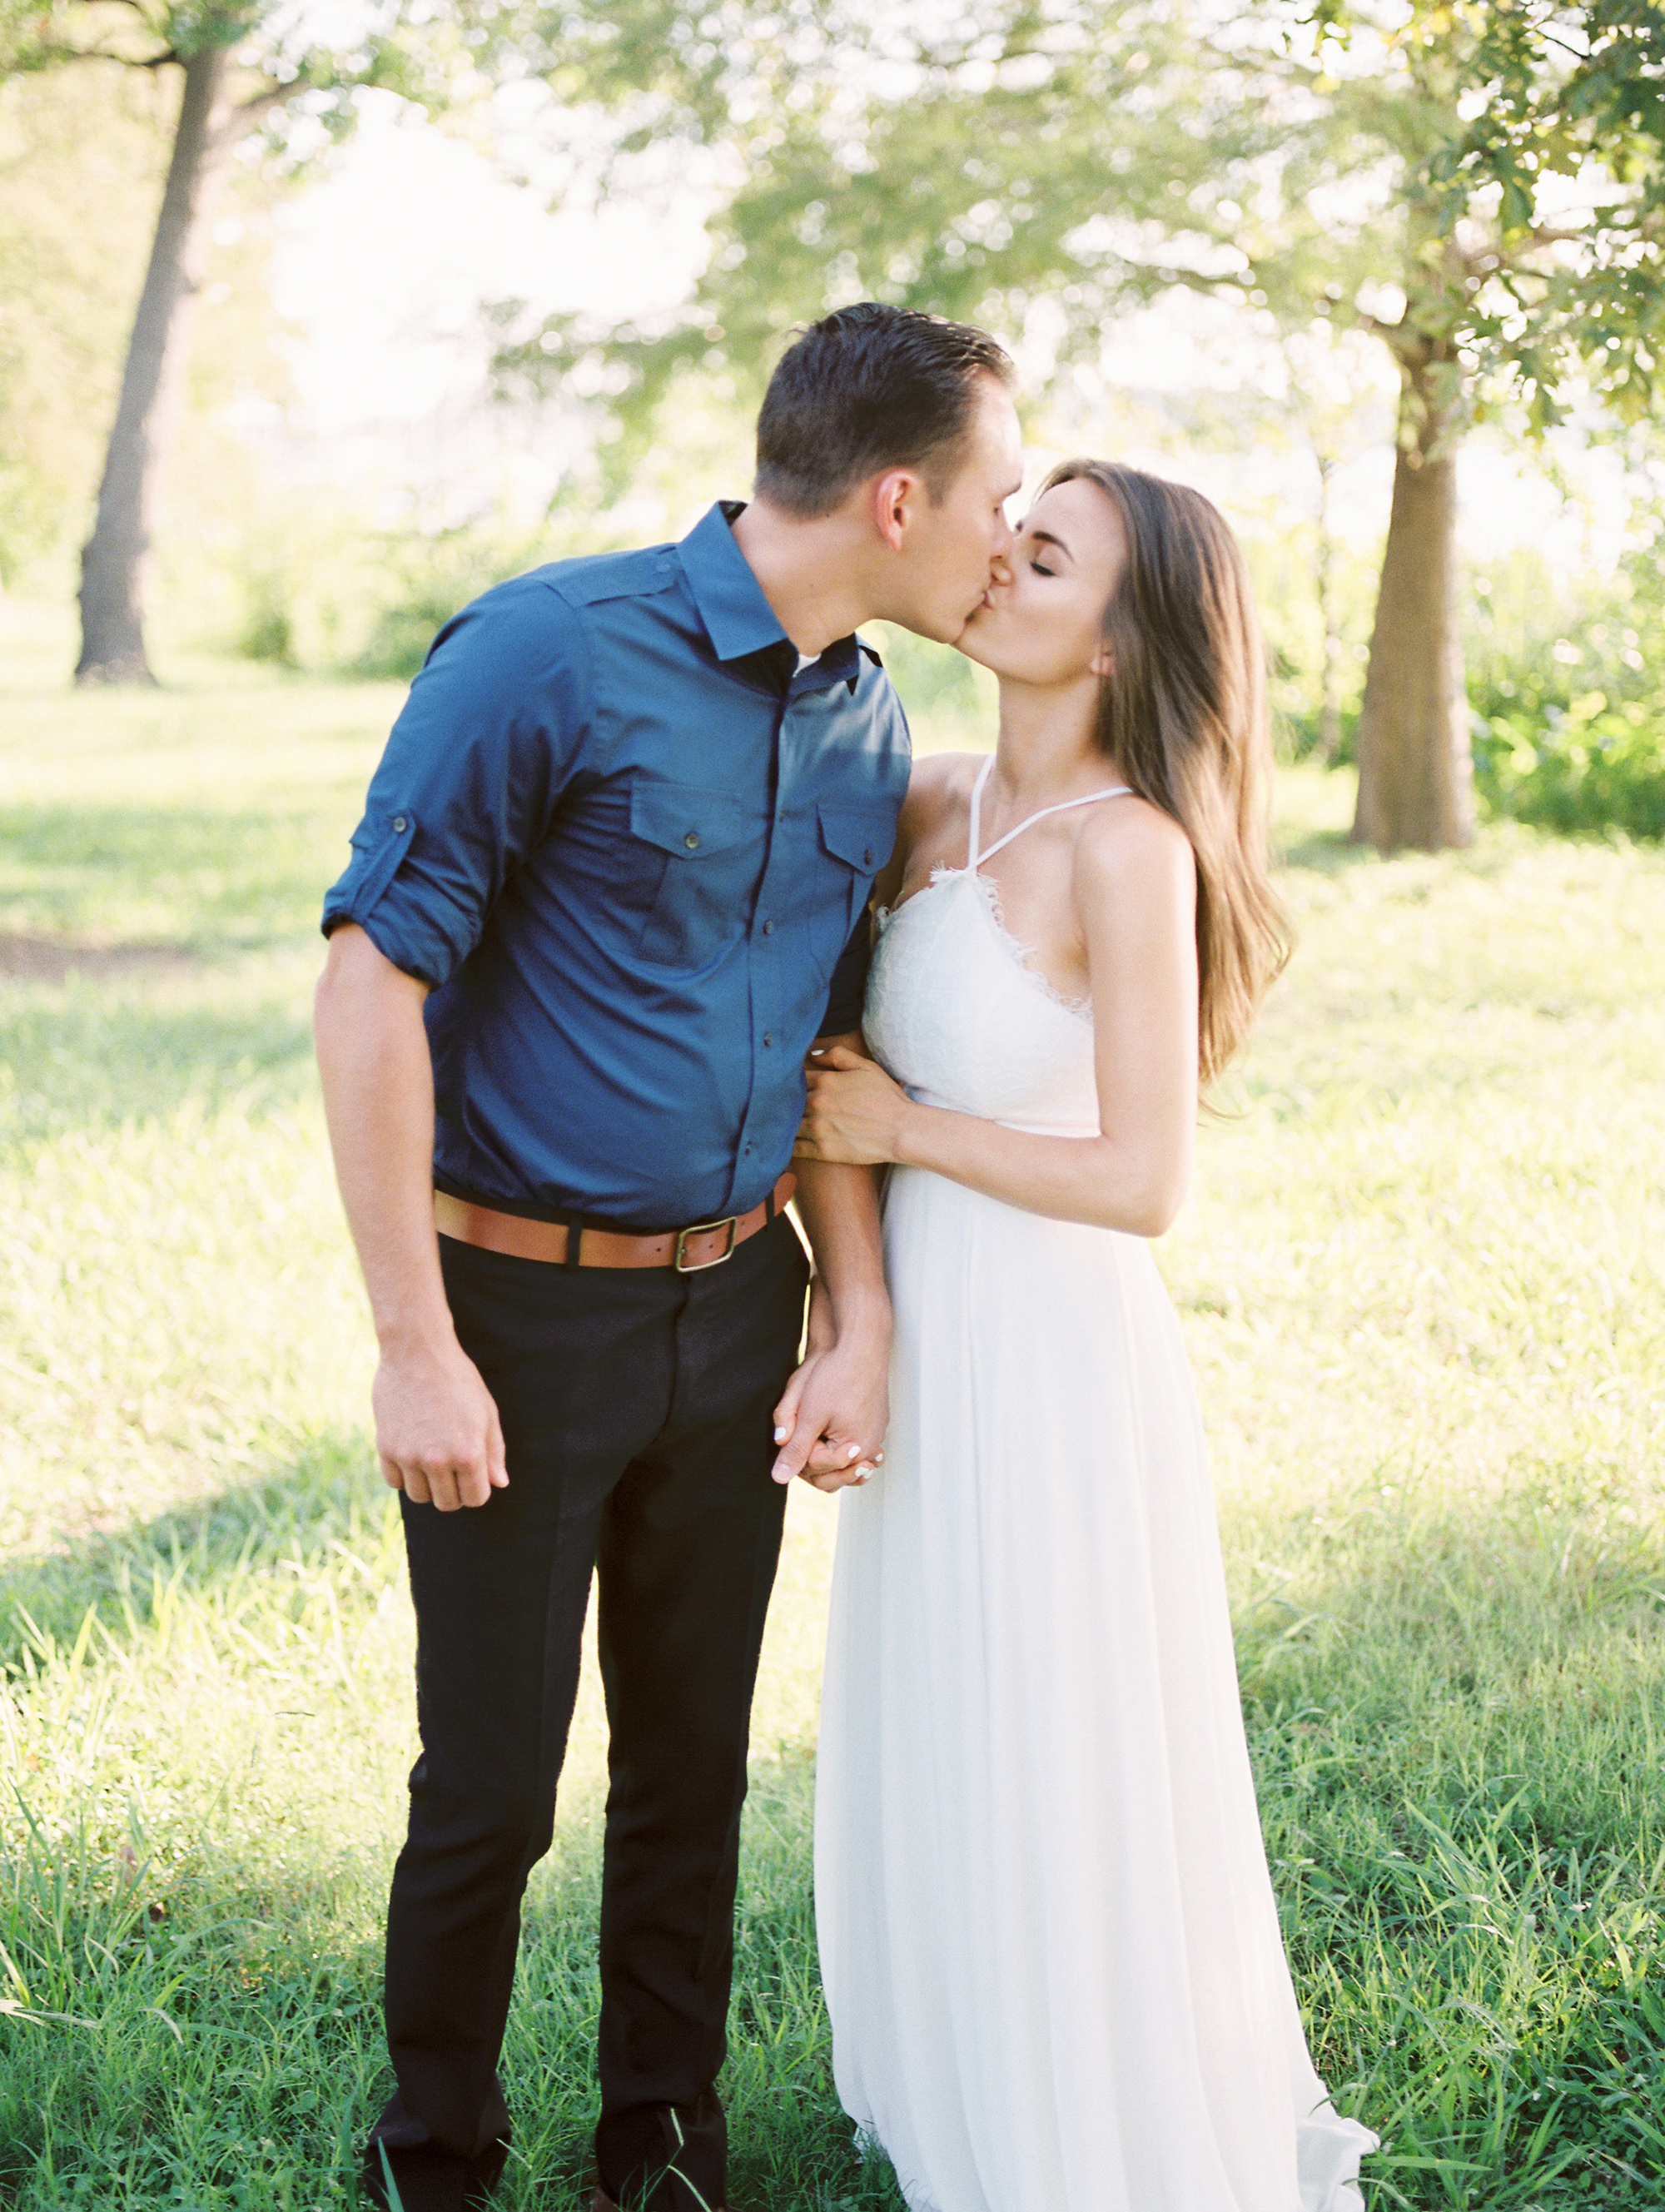
M 195 292 L 192 250 L 214 166 L 214 104 L 226 49 L 203 46 L 186 66 L 179 126 L 161 192 L 150 268 L 133 316 L 97 520 L 82 549 L 82 657 L 77 684 L 155 684 L 144 655 L 144 571 L 157 476 L 177 380 L 186 305 Z

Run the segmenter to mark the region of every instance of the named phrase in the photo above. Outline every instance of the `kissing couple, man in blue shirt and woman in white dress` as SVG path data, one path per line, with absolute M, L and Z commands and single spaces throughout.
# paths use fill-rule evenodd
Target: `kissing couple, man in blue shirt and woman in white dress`
M 913 2212 L 1362 2203 L 1145 1243 L 1280 960 L 1256 617 L 1179 484 L 1072 460 L 1010 526 L 1010 385 L 980 330 L 809 327 L 750 504 L 440 630 L 327 896 L 318 1060 L 418 1626 L 376 2203 L 462 2212 L 502 2172 L 593 1575 L 595 2208 L 730 2203 L 794 1478 L 842 1491 L 834 2070 Z M 909 763 L 865 622 L 995 672 L 993 757 Z

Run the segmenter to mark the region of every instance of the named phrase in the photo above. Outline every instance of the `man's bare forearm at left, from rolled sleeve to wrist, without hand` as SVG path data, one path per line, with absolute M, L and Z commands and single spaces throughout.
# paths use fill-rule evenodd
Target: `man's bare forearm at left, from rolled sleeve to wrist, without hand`
M 433 1237 L 433 1062 L 425 987 L 360 929 L 338 929 L 314 1035 L 341 1203 L 383 1347 L 447 1340 Z

